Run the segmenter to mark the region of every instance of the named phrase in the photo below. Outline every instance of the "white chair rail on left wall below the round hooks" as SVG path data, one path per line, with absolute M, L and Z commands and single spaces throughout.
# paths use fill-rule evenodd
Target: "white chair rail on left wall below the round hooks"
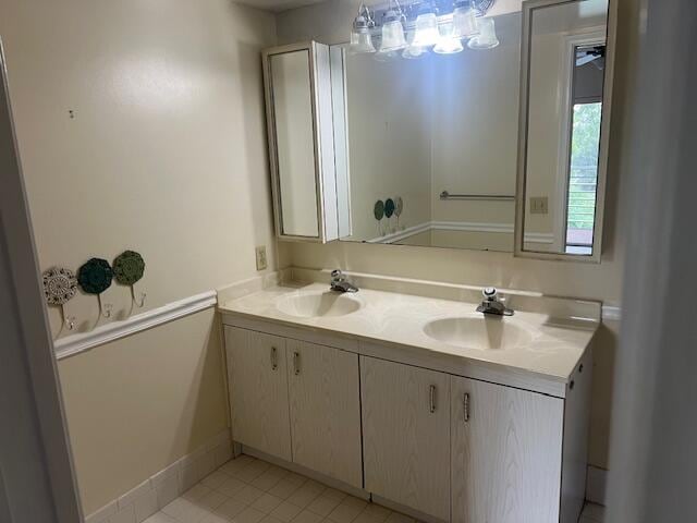
M 216 291 L 207 291 L 131 316 L 122 321 L 102 325 L 89 332 L 59 338 L 53 342 L 56 357 L 62 360 L 80 354 L 95 346 L 198 313 L 215 306 L 216 303 Z

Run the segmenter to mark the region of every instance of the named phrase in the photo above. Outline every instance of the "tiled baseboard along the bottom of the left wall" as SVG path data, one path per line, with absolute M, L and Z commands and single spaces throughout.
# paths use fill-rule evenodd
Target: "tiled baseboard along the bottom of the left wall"
M 232 438 L 225 429 L 93 512 L 85 523 L 106 523 L 111 518 L 140 523 L 231 459 Z

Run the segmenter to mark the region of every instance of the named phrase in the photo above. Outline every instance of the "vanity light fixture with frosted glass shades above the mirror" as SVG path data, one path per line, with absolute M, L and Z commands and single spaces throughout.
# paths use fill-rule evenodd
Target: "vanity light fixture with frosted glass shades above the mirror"
M 496 0 L 387 0 L 370 9 L 360 3 L 351 31 L 351 53 L 374 53 L 381 62 L 413 60 L 433 51 L 452 54 L 499 45 L 493 19 L 485 19 Z M 376 47 L 378 48 L 376 52 Z

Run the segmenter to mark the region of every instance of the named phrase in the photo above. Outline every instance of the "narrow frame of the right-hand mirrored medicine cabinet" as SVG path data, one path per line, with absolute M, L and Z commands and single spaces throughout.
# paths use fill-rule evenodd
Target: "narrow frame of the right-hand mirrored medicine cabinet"
M 513 255 L 519 258 L 554 259 L 562 262 L 582 262 L 599 264 L 602 254 L 602 234 L 608 177 L 608 153 L 610 144 L 610 123 L 612 109 L 612 86 L 614 77 L 614 58 L 617 23 L 617 1 L 608 0 L 608 24 L 606 34 L 606 75 L 602 87 L 602 115 L 600 124 L 600 147 L 598 150 L 598 184 L 596 192 L 596 216 L 592 238 L 592 254 L 550 253 L 525 250 L 525 185 L 527 171 L 528 112 L 529 112 L 529 65 L 530 34 L 535 10 L 552 5 L 576 3 L 583 0 L 527 0 L 523 2 L 522 41 L 521 41 L 521 104 L 518 119 L 518 155 L 515 197 L 515 234 Z

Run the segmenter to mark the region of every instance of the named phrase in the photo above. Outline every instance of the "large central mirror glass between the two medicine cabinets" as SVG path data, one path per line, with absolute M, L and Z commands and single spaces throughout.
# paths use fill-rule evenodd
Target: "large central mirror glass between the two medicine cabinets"
M 344 53 L 342 240 L 513 251 L 521 14 L 491 20 L 499 45 L 486 50 Z

